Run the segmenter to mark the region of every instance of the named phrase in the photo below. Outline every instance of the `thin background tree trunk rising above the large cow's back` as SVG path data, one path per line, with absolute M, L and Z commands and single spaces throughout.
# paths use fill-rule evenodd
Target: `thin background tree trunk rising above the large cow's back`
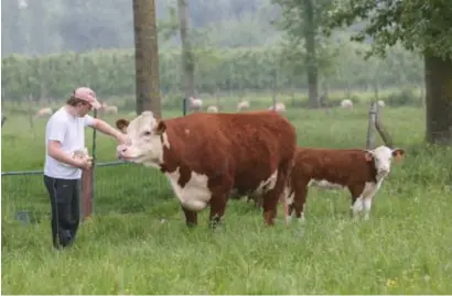
M 190 39 L 190 15 L 187 0 L 177 0 L 177 13 L 182 41 L 182 67 L 185 98 L 195 96 L 195 62 Z

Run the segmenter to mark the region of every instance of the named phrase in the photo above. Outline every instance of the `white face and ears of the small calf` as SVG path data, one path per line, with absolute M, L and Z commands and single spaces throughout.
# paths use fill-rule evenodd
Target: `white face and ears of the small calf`
M 402 149 L 390 149 L 378 146 L 374 150 L 366 150 L 365 157 L 367 162 L 374 162 L 378 176 L 386 176 L 390 172 L 392 158 L 401 161 L 405 155 Z

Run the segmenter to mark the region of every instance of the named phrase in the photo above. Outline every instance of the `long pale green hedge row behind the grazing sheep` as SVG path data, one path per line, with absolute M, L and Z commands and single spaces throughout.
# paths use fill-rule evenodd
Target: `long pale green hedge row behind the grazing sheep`
M 161 90 L 181 91 L 180 51 L 162 50 L 159 55 Z M 133 56 L 132 50 L 69 52 L 42 57 L 10 55 L 2 58 L 2 95 L 18 100 L 29 95 L 58 98 L 67 96 L 77 85 L 89 85 L 103 96 L 130 95 L 134 92 Z M 290 74 L 283 58 L 277 47 L 198 50 L 195 52 L 197 90 L 263 90 L 275 85 L 305 87 L 303 75 Z M 330 86 L 356 87 L 369 83 L 364 75 L 369 72 L 369 65 L 360 58 L 352 61 L 355 65 L 344 65 L 346 69 L 329 78 Z M 397 84 L 400 76 L 397 69 L 388 73 L 381 85 Z

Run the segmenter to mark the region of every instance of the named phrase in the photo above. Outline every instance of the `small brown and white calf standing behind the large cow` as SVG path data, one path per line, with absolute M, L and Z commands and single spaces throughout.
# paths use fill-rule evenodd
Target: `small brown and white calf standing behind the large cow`
M 347 188 L 352 194 L 354 217 L 364 209 L 369 218 L 373 199 L 390 172 L 391 161 L 400 161 L 401 149 L 378 146 L 375 150 L 297 147 L 286 196 L 288 219 L 304 220 L 308 187 Z

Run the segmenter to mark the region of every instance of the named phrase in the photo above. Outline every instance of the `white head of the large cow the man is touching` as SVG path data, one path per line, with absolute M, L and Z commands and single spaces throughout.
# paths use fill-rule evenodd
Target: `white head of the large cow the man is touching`
M 127 162 L 155 165 L 163 158 L 162 135 L 164 121 L 158 121 L 152 112 L 144 111 L 132 121 L 119 119 L 116 127 L 129 136 L 129 143 L 118 145 L 116 155 Z M 165 138 L 165 136 L 163 136 Z

